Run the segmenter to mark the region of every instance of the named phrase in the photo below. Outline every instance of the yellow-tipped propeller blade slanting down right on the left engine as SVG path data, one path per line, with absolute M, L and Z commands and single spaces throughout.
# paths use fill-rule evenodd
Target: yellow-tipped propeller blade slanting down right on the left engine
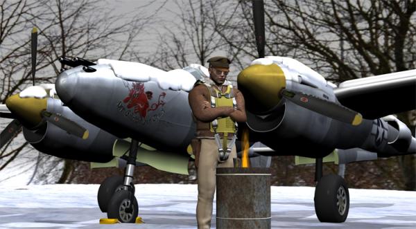
M 60 127 L 64 131 L 67 131 L 69 134 L 73 134 L 79 138 L 87 139 L 89 132 L 84 127 L 81 127 L 76 122 L 65 118 L 60 113 L 51 113 L 49 111 L 42 111 L 42 117 L 48 121 L 52 122 L 57 127 Z

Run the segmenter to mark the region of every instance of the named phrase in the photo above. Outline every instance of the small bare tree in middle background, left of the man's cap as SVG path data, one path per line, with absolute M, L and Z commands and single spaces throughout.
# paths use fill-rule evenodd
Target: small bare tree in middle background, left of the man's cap
M 175 4 L 177 11 L 167 11 L 178 20 L 169 21 L 159 31 L 155 65 L 166 70 L 192 63 L 205 65 L 211 55 L 227 51 L 211 19 L 212 15 L 225 12 L 229 2 L 182 0 Z

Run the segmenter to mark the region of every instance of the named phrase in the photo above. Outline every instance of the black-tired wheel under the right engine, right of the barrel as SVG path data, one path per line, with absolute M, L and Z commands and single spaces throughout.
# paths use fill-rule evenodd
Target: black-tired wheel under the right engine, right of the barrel
M 343 223 L 349 210 L 349 192 L 344 178 L 336 174 L 323 176 L 315 187 L 314 201 L 319 221 Z

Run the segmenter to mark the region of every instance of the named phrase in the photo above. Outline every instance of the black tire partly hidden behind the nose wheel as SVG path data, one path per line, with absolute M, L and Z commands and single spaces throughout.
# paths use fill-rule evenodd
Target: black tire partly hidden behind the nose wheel
M 123 187 L 123 176 L 107 177 L 98 188 L 97 201 L 101 212 L 107 212 L 107 205 L 117 190 Z

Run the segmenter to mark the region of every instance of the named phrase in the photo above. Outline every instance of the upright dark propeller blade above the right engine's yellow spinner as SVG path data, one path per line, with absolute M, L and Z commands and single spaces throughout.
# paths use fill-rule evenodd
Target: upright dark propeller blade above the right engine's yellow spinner
M 257 53 L 259 58 L 264 57 L 264 46 L 266 38 L 264 33 L 264 2 L 263 0 L 252 0 L 254 33 L 256 35 Z

